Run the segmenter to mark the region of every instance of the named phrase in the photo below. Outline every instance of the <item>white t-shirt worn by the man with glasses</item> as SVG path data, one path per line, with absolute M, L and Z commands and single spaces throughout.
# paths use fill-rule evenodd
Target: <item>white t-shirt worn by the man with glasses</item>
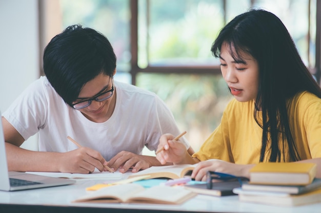
M 178 135 L 174 117 L 154 93 L 115 81 L 116 106 L 104 123 L 88 120 L 56 93 L 46 77 L 33 82 L 3 113 L 8 122 L 28 139 L 39 133 L 39 151 L 68 152 L 77 147 L 99 151 L 108 161 L 120 151 L 142 154 L 144 146 L 155 151 L 159 137 Z M 188 141 L 182 137 L 188 148 Z

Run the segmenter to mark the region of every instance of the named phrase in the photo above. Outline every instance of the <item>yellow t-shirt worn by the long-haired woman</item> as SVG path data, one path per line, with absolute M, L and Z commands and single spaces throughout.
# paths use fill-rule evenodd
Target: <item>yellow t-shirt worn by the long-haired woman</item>
M 288 104 L 290 128 L 299 156 L 302 160 L 321 157 L 321 99 L 310 92 L 299 92 Z M 262 114 L 258 115 L 261 119 Z M 201 161 L 221 159 L 238 164 L 258 163 L 262 132 L 254 119 L 254 101 L 233 99 L 226 107 L 220 125 L 193 157 Z M 265 159 L 269 158 L 268 150 Z

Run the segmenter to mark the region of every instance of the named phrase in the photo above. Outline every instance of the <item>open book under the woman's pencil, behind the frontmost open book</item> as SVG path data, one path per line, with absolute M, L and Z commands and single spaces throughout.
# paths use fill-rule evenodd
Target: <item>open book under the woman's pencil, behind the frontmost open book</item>
M 129 178 L 137 177 L 141 175 L 150 175 L 148 179 L 152 178 L 168 178 L 177 179 L 184 176 L 190 176 L 193 169 L 197 164 L 180 164 L 180 165 L 164 165 L 159 167 L 150 167 L 146 170 L 136 172 L 134 175 L 130 175 Z

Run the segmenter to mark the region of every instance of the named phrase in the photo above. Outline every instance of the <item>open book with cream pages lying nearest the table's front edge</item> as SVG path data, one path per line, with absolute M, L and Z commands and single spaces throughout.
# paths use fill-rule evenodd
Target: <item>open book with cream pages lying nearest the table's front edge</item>
M 157 185 L 145 189 L 136 183 L 101 188 L 73 202 L 181 204 L 196 196 L 183 187 Z

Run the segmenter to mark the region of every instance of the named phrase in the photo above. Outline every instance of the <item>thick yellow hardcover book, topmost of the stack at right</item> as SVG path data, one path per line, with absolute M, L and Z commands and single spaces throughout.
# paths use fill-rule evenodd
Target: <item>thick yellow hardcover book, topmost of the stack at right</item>
M 250 184 L 307 185 L 315 175 L 315 163 L 258 163 L 250 170 Z

